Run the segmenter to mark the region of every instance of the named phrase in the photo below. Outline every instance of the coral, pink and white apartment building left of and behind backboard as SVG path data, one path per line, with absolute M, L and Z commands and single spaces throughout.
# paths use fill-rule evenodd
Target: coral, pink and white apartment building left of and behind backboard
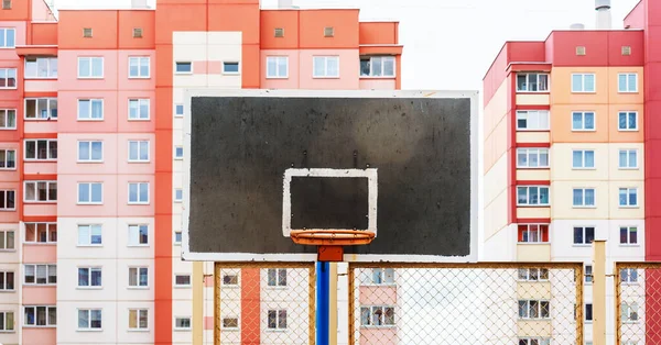
M 43 0 L 1 1 L 0 343 L 212 343 L 213 264 L 178 246 L 184 90 L 399 89 L 398 23 L 358 14 L 159 0 L 56 19 Z M 223 281 L 264 297 L 290 275 Z M 235 298 L 259 311 L 223 319 L 236 342 L 308 326 Z

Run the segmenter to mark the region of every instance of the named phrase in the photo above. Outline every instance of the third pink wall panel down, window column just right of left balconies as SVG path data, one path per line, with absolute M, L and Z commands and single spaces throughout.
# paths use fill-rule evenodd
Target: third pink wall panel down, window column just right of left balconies
M 78 141 L 97 140 L 104 142 L 102 163 L 78 163 Z M 117 134 L 72 133 L 59 134 L 57 145 L 68 155 L 58 156 L 57 174 L 105 175 L 117 174 Z

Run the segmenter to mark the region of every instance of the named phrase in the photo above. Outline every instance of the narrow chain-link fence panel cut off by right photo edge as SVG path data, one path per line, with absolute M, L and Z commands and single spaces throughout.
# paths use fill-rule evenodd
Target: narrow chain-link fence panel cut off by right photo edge
M 615 285 L 617 344 L 661 344 L 661 263 L 617 263 Z

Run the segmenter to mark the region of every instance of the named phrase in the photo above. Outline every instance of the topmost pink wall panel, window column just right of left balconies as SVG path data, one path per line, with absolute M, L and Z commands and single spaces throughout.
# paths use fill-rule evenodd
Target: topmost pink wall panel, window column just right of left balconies
M 102 79 L 78 79 L 79 56 L 102 56 Z M 117 90 L 118 70 L 117 51 L 65 51 L 58 52 L 57 88 L 61 91 L 69 90 Z M 126 76 L 126 75 L 124 75 Z M 62 105 L 61 105 L 62 107 Z M 61 113 L 63 113 L 61 111 Z M 64 115 L 64 114 L 63 114 Z

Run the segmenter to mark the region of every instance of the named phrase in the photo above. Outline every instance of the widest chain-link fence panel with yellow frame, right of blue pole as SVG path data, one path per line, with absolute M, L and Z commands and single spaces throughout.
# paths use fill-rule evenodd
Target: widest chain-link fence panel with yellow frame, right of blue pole
M 583 344 L 582 264 L 350 264 L 349 344 Z

